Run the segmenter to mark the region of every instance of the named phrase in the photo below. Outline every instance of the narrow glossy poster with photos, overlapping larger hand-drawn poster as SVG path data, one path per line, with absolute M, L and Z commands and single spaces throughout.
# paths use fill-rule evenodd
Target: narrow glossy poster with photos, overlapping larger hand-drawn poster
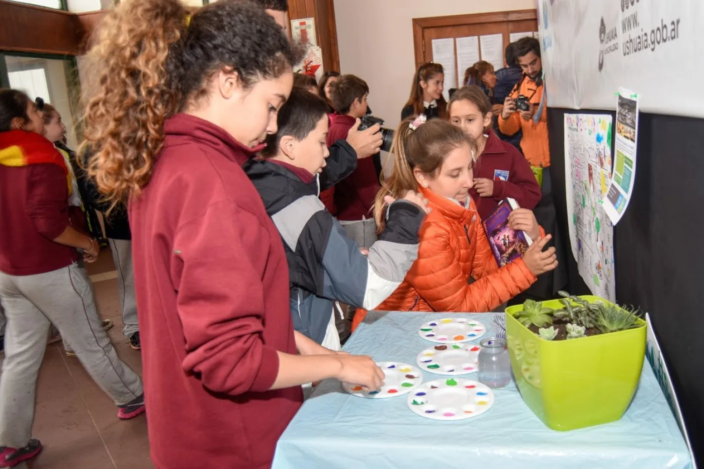
M 616 161 L 604 210 L 615 225 L 621 220 L 633 194 L 638 144 L 638 94 L 619 89 L 616 106 Z

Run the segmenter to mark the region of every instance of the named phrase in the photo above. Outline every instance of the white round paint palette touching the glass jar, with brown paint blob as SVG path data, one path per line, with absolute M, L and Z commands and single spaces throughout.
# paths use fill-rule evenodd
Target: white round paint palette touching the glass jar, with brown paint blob
M 479 350 L 476 344 L 439 344 L 420 352 L 415 363 L 436 375 L 467 375 L 477 371 Z

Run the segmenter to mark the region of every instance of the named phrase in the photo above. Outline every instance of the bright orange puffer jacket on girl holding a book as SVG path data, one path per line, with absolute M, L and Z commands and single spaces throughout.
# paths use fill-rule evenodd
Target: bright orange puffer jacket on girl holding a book
M 522 258 L 498 268 L 473 201 L 464 208 L 429 189 L 420 190 L 432 211 L 420 228 L 418 258 L 377 310 L 481 313 L 498 308 L 536 281 Z M 476 281 L 470 284 L 470 277 Z M 357 311 L 355 327 L 365 314 Z

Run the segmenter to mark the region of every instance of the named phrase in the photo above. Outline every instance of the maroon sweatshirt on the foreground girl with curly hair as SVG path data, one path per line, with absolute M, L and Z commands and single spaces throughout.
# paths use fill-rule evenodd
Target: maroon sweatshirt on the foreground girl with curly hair
M 269 391 L 296 354 L 281 236 L 241 169 L 253 151 L 178 114 L 130 204 L 151 458 L 158 469 L 268 468 L 301 406 Z

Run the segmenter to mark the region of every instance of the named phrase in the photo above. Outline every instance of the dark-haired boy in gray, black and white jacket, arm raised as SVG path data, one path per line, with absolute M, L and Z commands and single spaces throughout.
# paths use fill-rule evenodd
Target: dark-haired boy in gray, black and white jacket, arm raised
M 386 229 L 365 256 L 318 199 L 356 168 L 353 151 L 326 161 L 325 101 L 294 87 L 277 121 L 263 158 L 244 170 L 284 242 L 295 329 L 339 349 L 334 301 L 372 310 L 394 292 L 417 256 L 427 201 L 409 192 L 389 205 Z

